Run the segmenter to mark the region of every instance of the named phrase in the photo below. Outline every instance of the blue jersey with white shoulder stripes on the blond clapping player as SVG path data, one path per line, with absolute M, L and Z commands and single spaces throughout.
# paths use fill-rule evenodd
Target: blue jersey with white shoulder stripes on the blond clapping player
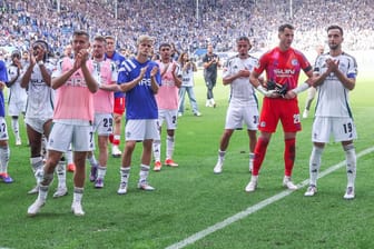
M 122 62 L 118 72 L 118 83 L 128 83 L 140 74 L 140 69 L 148 69 L 142 80 L 131 90 L 126 92 L 126 119 L 158 119 L 158 110 L 155 93 L 150 87 L 150 70 L 158 67 L 155 61 L 148 60 L 140 63 L 135 58 Z M 158 70 L 156 74 L 158 86 L 161 84 L 161 74 Z

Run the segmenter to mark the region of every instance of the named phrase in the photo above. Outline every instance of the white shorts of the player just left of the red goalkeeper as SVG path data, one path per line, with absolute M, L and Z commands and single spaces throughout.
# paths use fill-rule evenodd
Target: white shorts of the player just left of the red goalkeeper
M 228 106 L 225 129 L 243 129 L 243 123 L 248 130 L 258 129 L 258 109 L 255 106 Z

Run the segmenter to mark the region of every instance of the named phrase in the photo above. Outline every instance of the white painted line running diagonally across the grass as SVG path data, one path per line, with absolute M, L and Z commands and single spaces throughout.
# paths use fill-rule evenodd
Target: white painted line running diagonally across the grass
M 367 148 L 367 149 L 361 151 L 360 153 L 357 153 L 356 157 L 358 159 L 358 158 L 361 158 L 361 157 L 363 157 L 363 156 L 365 156 L 370 152 L 373 152 L 373 151 L 374 151 L 374 147 L 371 147 L 371 148 Z M 328 173 L 334 172 L 335 170 L 337 170 L 338 168 L 341 168 L 343 166 L 345 166 L 345 160 L 338 162 L 335 166 L 332 166 L 332 167 L 325 169 L 322 172 L 319 172 L 318 173 L 318 179 L 327 176 Z M 298 189 L 301 189 L 301 188 L 304 188 L 305 186 L 307 186 L 308 183 L 309 183 L 309 179 L 306 179 L 303 182 L 298 183 L 297 187 L 298 187 Z M 289 196 L 294 191 L 296 191 L 296 190 L 284 190 L 284 191 L 282 191 L 282 192 L 279 192 L 279 193 L 277 193 L 277 195 L 275 195 L 270 198 L 267 198 L 267 199 L 258 202 L 255 206 L 248 207 L 246 210 L 244 210 L 242 212 L 238 212 L 238 213 L 225 219 L 224 221 L 215 223 L 215 225 L 208 227 L 207 229 L 204 229 L 203 231 L 196 232 L 195 235 L 193 235 L 193 236 L 190 236 L 190 237 L 188 237 L 188 238 L 186 238 L 186 239 L 184 239 L 184 240 L 181 240 L 177 243 L 168 246 L 166 249 L 180 249 L 180 248 L 184 248 L 188 245 L 191 245 L 191 243 L 196 242 L 197 240 L 200 240 L 204 237 L 206 237 L 206 236 L 208 236 L 208 235 L 210 235 L 210 233 L 213 233 L 217 230 L 220 230 L 220 229 L 223 229 L 223 228 L 225 228 L 225 227 L 227 227 L 227 226 L 229 226 L 229 225 L 232 225 L 232 223 L 234 223 L 234 222 L 236 222 L 236 221 L 238 221 L 243 218 L 246 218 L 247 216 L 260 210 L 262 208 L 265 208 L 266 206 L 268 206 L 270 203 L 274 203 L 275 201 L 280 200 L 280 199 L 285 198 L 286 196 Z

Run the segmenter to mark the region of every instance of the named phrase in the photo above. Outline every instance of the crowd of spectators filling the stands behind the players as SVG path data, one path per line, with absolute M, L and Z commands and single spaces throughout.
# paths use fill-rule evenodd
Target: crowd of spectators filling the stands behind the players
M 140 33 L 189 52 L 208 43 L 228 51 L 239 36 L 266 49 L 276 43 L 277 27 L 289 22 L 301 50 L 325 43 L 332 23 L 345 30 L 347 50 L 367 50 L 374 49 L 373 11 L 373 0 L 0 0 L 0 47 L 26 50 L 45 39 L 61 53 L 71 32 L 83 29 L 115 36 L 118 48 L 131 52 Z

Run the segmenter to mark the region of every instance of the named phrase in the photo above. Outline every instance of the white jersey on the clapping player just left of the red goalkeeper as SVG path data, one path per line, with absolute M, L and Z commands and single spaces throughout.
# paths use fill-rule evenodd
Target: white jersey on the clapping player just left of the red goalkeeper
M 254 70 L 258 59 L 248 57 L 247 59 L 240 59 L 238 57 L 233 58 L 227 63 L 227 70 L 224 71 L 223 78 L 236 74 L 239 70 Z M 249 83 L 249 77 L 237 78 L 230 83 L 230 104 L 237 106 L 258 106 L 255 90 Z

